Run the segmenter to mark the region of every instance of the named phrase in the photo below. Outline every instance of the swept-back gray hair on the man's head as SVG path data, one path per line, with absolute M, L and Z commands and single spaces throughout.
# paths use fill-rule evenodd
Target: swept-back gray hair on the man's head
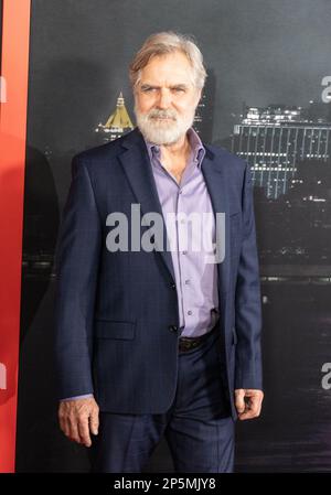
M 151 34 L 135 55 L 129 66 L 129 76 L 135 88 L 140 80 L 141 69 L 154 56 L 162 56 L 173 52 L 182 52 L 189 60 L 193 69 L 193 84 L 202 89 L 206 78 L 203 66 L 203 56 L 192 36 L 164 31 Z

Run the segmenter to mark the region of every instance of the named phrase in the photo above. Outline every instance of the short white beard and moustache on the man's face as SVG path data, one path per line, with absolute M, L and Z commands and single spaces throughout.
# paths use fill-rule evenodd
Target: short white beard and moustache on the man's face
M 188 111 L 184 117 L 179 117 L 174 110 L 159 110 L 152 109 L 148 114 L 141 114 L 137 105 L 135 105 L 135 115 L 137 126 L 141 133 L 154 144 L 173 144 L 179 141 L 190 127 L 193 125 L 195 108 L 193 111 Z M 156 117 L 169 117 L 170 120 L 161 120 Z

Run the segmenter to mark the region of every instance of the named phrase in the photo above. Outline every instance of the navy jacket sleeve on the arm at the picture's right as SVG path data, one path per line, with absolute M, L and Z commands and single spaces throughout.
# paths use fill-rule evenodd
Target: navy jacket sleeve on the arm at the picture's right
M 263 388 L 261 308 L 250 170 L 243 186 L 243 238 L 235 293 L 237 333 L 235 388 Z

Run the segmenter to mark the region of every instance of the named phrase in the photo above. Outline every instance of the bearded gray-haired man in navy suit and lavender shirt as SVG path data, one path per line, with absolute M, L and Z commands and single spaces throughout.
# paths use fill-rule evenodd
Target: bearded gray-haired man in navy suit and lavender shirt
M 57 251 L 58 417 L 92 446 L 96 472 L 141 472 L 163 434 L 177 472 L 232 472 L 234 422 L 260 413 L 249 169 L 192 128 L 205 76 L 190 39 L 151 35 L 130 66 L 138 127 L 73 160 Z M 192 214 L 213 249 L 192 246 Z

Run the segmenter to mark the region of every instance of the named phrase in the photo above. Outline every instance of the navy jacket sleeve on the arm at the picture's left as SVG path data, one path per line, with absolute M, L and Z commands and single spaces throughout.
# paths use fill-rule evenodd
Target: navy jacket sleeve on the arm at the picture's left
M 88 170 L 77 157 L 56 248 L 55 370 L 58 398 L 93 394 L 93 321 L 102 225 Z

